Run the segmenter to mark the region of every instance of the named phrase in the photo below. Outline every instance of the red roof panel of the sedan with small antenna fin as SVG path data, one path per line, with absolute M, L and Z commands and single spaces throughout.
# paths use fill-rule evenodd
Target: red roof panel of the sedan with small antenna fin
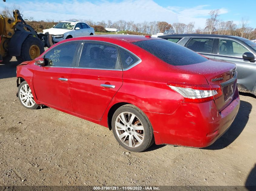
M 127 34 L 102 34 L 102 35 L 91 35 L 85 37 L 72 38 L 74 40 L 118 40 L 126 41 L 129 43 L 142 41 L 142 40 L 160 40 L 157 37 L 142 36 L 142 35 L 127 35 Z M 164 39 L 163 39 L 164 40 Z

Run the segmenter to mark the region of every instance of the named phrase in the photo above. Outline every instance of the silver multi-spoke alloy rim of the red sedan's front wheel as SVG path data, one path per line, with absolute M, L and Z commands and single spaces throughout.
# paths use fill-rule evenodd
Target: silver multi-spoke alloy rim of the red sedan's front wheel
M 19 91 L 19 97 L 22 104 L 26 107 L 33 107 L 35 105 L 35 101 L 33 95 L 31 93 L 31 89 L 28 84 L 24 84 Z

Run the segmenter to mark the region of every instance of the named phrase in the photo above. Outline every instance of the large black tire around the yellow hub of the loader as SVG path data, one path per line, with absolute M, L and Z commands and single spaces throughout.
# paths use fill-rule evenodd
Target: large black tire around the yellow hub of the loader
M 32 46 L 37 46 L 39 48 L 38 53 L 35 53 L 34 57 L 31 57 L 29 54 L 29 49 Z M 21 54 L 20 56 L 16 56 L 16 59 L 18 60 L 19 63 L 24 61 L 30 61 L 40 56 L 44 51 L 45 49 L 43 42 L 39 40 L 37 37 L 29 35 L 22 43 Z

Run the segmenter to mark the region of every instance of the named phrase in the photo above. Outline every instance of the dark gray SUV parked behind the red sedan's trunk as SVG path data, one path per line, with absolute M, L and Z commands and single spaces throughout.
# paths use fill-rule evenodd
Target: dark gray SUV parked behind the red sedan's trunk
M 158 37 L 178 43 L 210 59 L 235 63 L 239 91 L 256 95 L 256 43 L 251 40 L 214 34 L 174 34 Z

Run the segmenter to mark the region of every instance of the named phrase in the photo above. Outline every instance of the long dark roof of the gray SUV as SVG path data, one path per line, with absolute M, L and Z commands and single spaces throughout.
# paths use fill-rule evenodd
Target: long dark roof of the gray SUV
M 230 39 L 238 39 L 241 41 L 246 41 L 248 39 L 242 37 L 236 37 L 231 35 L 220 35 L 220 34 L 169 34 L 169 35 L 160 35 L 161 37 L 215 37 L 215 38 L 230 38 Z

